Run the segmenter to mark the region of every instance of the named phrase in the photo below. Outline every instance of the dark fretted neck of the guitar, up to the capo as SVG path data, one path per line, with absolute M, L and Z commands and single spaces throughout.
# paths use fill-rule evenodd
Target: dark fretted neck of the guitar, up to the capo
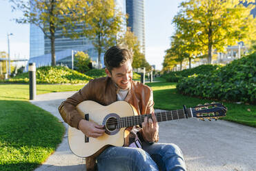
M 141 125 L 144 122 L 144 118 L 152 118 L 152 114 L 141 114 L 131 117 L 121 117 L 117 119 L 117 128 L 126 128 L 134 125 Z M 157 122 L 172 121 L 176 119 L 186 119 L 193 117 L 192 109 L 188 108 L 185 110 L 169 110 L 164 112 L 156 112 L 155 117 Z

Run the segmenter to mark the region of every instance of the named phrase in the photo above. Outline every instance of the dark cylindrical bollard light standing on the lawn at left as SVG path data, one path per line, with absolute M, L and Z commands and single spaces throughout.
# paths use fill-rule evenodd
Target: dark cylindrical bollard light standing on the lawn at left
M 35 100 L 37 95 L 36 63 L 28 64 L 28 72 L 30 77 L 30 100 Z

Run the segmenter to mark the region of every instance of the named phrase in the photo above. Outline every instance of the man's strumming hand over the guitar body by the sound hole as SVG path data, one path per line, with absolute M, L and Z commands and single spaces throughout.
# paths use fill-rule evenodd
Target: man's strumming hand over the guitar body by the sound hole
M 79 130 L 86 135 L 86 137 L 97 138 L 104 134 L 104 125 L 98 125 L 92 121 L 82 119 L 78 124 Z

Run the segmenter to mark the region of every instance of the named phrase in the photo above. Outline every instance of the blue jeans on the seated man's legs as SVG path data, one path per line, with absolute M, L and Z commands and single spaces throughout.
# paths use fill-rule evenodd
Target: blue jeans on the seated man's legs
M 109 147 L 97 157 L 98 170 L 185 171 L 181 150 L 175 144 L 154 143 L 141 148 Z

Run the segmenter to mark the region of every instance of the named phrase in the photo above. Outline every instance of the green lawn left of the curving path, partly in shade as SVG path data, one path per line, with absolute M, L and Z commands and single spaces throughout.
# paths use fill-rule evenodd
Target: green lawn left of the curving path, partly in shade
M 37 94 L 82 87 L 37 85 Z M 35 170 L 61 143 L 65 128 L 28 101 L 28 85 L 0 84 L 0 92 L 0 170 Z

